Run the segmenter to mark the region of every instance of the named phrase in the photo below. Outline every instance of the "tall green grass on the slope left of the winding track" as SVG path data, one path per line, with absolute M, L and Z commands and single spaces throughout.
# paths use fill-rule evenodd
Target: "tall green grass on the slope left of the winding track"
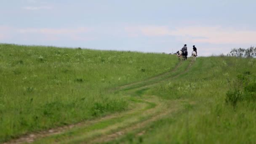
M 0 44 L 0 142 L 128 109 L 107 90 L 177 63 L 156 53 Z

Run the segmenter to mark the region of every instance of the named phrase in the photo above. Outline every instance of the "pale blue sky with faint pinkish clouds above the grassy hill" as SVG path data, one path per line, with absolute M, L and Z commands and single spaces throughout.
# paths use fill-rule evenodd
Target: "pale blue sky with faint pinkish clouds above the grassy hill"
M 0 43 L 199 56 L 256 46 L 256 0 L 0 0 Z

